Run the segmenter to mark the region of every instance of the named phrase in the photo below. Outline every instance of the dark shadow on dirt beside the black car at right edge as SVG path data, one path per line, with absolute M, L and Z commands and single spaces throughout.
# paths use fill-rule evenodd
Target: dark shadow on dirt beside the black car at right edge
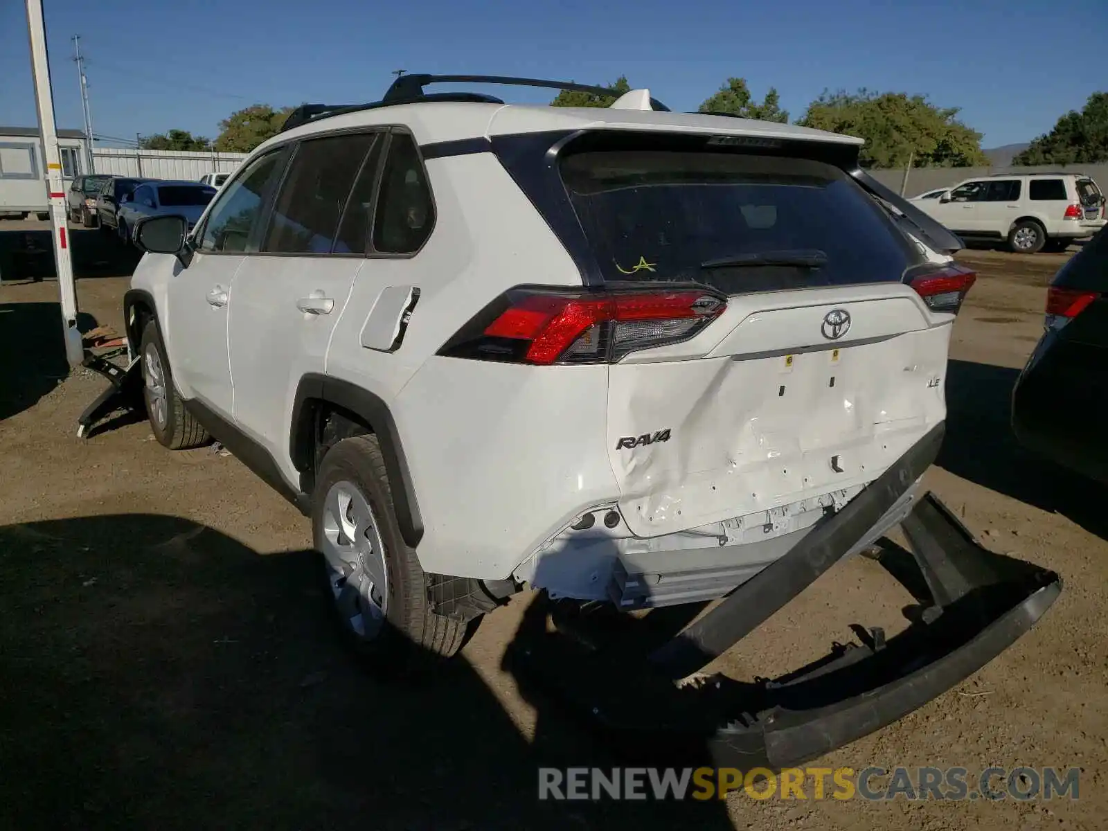
M 1012 432 L 1018 369 L 952 360 L 946 439 L 936 464 L 1044 511 L 1056 511 L 1108 540 L 1108 489 L 1022 448 Z

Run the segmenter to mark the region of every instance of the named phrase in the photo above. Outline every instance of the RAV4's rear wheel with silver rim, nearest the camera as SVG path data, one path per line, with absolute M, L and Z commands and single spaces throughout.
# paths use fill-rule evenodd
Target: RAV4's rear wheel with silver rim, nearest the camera
M 311 530 L 346 636 L 382 673 L 450 657 L 466 622 L 435 614 L 428 578 L 400 533 L 376 435 L 343 439 L 319 468 Z

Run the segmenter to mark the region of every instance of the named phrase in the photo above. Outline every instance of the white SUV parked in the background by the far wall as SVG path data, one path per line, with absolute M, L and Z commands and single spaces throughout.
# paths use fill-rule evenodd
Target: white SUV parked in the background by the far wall
M 1064 250 L 1105 224 L 1100 188 L 1075 173 L 966 179 L 938 198 L 917 197 L 913 204 L 962 237 L 1004 239 L 1019 254 Z

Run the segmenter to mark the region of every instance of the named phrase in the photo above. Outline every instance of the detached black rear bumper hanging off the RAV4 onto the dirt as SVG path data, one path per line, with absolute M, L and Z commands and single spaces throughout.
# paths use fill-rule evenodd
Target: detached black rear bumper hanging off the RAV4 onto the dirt
M 524 691 L 534 683 L 538 695 L 555 693 L 615 746 L 664 753 L 666 765 L 779 770 L 895 721 L 1004 652 L 1061 592 L 1054 572 L 982 547 L 933 494 L 917 499 L 901 523 L 912 551 L 888 544 L 879 557 L 919 603 L 895 637 L 853 627 L 861 645 L 835 644 L 774 679 L 714 676 L 684 687 L 674 679 L 725 652 L 850 551 L 931 463 L 942 432 L 940 425 L 925 435 L 787 555 L 653 653 L 642 642 L 657 613 L 635 619 L 577 612 L 551 633 L 546 616 L 553 612 L 557 623 L 558 607 L 540 598 L 505 663 Z M 583 636 L 597 620 L 608 637 Z

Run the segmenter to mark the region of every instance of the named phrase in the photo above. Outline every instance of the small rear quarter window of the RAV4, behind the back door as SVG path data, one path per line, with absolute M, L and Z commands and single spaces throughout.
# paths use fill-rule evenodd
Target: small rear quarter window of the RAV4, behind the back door
M 382 254 L 414 254 L 433 226 L 434 201 L 419 150 L 407 133 L 393 133 L 373 218 L 373 248 Z

